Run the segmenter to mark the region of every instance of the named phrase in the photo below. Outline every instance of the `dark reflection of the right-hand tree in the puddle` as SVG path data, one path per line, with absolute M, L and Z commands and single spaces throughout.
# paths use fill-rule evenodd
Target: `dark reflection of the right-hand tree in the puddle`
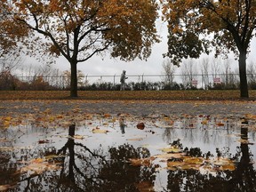
M 217 175 L 201 174 L 196 170 L 168 171 L 168 191 L 256 191 L 256 172 L 252 164 L 248 144 L 248 129 L 241 128 L 240 148 L 233 157 L 237 161 L 236 170 L 217 172 Z M 221 153 L 217 150 L 217 153 Z M 225 153 L 228 153 L 225 151 Z M 210 156 L 202 154 L 200 148 L 189 151 L 190 156 Z M 219 154 L 220 155 L 220 154 Z

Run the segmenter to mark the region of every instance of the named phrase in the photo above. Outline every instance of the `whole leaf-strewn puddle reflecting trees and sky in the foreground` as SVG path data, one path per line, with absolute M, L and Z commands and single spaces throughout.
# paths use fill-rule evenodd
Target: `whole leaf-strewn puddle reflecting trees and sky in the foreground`
M 253 119 L 95 114 L 72 138 L 60 116 L 7 118 L 0 191 L 256 191 Z

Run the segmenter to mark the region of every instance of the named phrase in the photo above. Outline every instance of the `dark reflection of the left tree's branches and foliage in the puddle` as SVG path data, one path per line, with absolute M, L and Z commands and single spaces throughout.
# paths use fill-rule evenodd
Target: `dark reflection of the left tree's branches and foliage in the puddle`
M 5 166 L 5 169 L 1 167 L 1 172 L 10 172 L 7 178 L 3 179 L 6 183 L 1 185 L 18 183 L 16 190 L 13 188 L 13 191 L 136 191 L 136 184 L 143 181 L 152 183 L 154 186 L 154 168 L 132 166 L 128 163 L 129 158 L 150 156 L 147 148 L 133 148 L 132 145 L 124 144 L 109 148 L 106 152 L 100 146 L 91 150 L 69 138 L 58 151 L 56 148 L 39 150 L 24 148 L 19 154 L 14 152 L 11 155 L 10 152 L 6 154 L 9 154 L 6 156 L 6 164 L 11 157 L 29 161 L 31 158 L 43 158 L 53 154 L 65 156 L 56 156 L 60 158 L 58 159 L 62 165 L 60 170 L 48 170 L 35 174 L 18 173 L 18 168 L 15 166 L 17 162 Z M 31 158 L 28 159 L 27 155 Z M 2 160 L 4 161 L 4 158 Z

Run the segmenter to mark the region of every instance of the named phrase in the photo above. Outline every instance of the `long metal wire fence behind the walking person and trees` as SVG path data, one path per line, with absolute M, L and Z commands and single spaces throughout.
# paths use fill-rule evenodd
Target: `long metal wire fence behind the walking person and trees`
M 40 76 L 41 81 L 47 82 L 57 88 L 68 88 L 70 77 L 68 76 Z M 238 74 L 200 74 L 200 75 L 132 75 L 127 76 L 126 84 L 155 84 L 157 90 L 163 89 L 165 85 L 182 84 L 183 88 L 208 89 L 213 84 L 216 86 L 239 86 Z M 248 74 L 248 83 L 252 84 L 256 81 L 256 74 Z M 38 76 L 16 76 L 21 82 L 33 83 Z M 78 87 L 88 87 L 92 84 L 108 84 L 116 87 L 120 84 L 120 76 L 118 75 L 86 75 L 78 76 Z M 232 87 L 230 87 L 232 88 Z

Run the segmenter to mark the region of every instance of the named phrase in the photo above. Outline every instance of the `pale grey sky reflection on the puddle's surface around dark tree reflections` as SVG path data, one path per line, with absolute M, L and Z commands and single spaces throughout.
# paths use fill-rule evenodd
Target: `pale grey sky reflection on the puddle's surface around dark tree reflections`
M 216 156 L 216 148 L 219 148 L 220 151 L 227 151 L 228 148 L 228 153 L 235 155 L 236 148 L 241 145 L 238 141 L 241 139 L 241 127 L 239 122 L 235 120 L 229 120 L 228 124 L 223 122 L 224 126 L 217 126 L 218 120 L 216 119 L 208 121 L 207 124 L 202 124 L 202 118 L 182 118 L 170 125 L 164 122 L 163 119 L 158 119 L 153 123 L 151 119 L 132 118 L 130 120 L 126 119 L 126 126 L 122 128 L 119 126 L 118 120 L 115 123 L 109 123 L 108 119 L 104 121 L 102 119 L 92 119 L 90 124 L 85 122 L 85 125 L 76 127 L 76 134 L 84 136 L 84 139 L 75 141 L 82 143 L 91 150 L 99 147 L 103 148 L 106 155 L 108 155 L 108 148 L 118 147 L 124 143 L 129 143 L 134 148 L 148 148 L 150 156 L 163 153 L 161 148 L 170 147 L 169 144 L 178 139 L 180 139 L 183 148 L 200 148 L 203 154 L 210 151 L 214 156 Z M 137 129 L 136 124 L 140 122 L 146 124 L 145 129 Z M 92 133 L 92 129 L 96 127 L 108 130 L 108 133 Z M 8 145 L 18 147 L 16 151 L 19 151 L 19 148 L 22 147 L 35 148 L 33 151 L 35 153 L 37 151 L 40 155 L 42 148 L 55 147 L 57 150 L 62 148 L 68 140 L 67 136 L 68 128 L 45 129 L 29 125 L 18 126 L 1 131 L 0 138 L 9 138 L 12 141 L 0 142 L 0 147 L 8 147 Z M 255 143 L 255 132 L 249 131 L 248 137 L 250 142 Z M 49 140 L 49 143 L 38 144 L 38 140 Z M 254 155 L 254 161 L 256 161 L 255 146 L 249 145 L 249 150 Z M 36 154 L 33 157 L 36 158 Z M 31 156 L 31 158 L 33 157 Z M 15 162 L 18 159 L 12 158 L 11 160 Z M 79 161 L 77 161 L 77 164 L 79 164 Z M 97 164 L 97 162 L 93 162 L 93 164 Z M 161 166 L 164 165 L 166 166 L 166 163 L 161 164 Z M 159 170 L 156 174 L 156 188 L 157 186 L 166 185 L 166 182 L 166 170 Z

